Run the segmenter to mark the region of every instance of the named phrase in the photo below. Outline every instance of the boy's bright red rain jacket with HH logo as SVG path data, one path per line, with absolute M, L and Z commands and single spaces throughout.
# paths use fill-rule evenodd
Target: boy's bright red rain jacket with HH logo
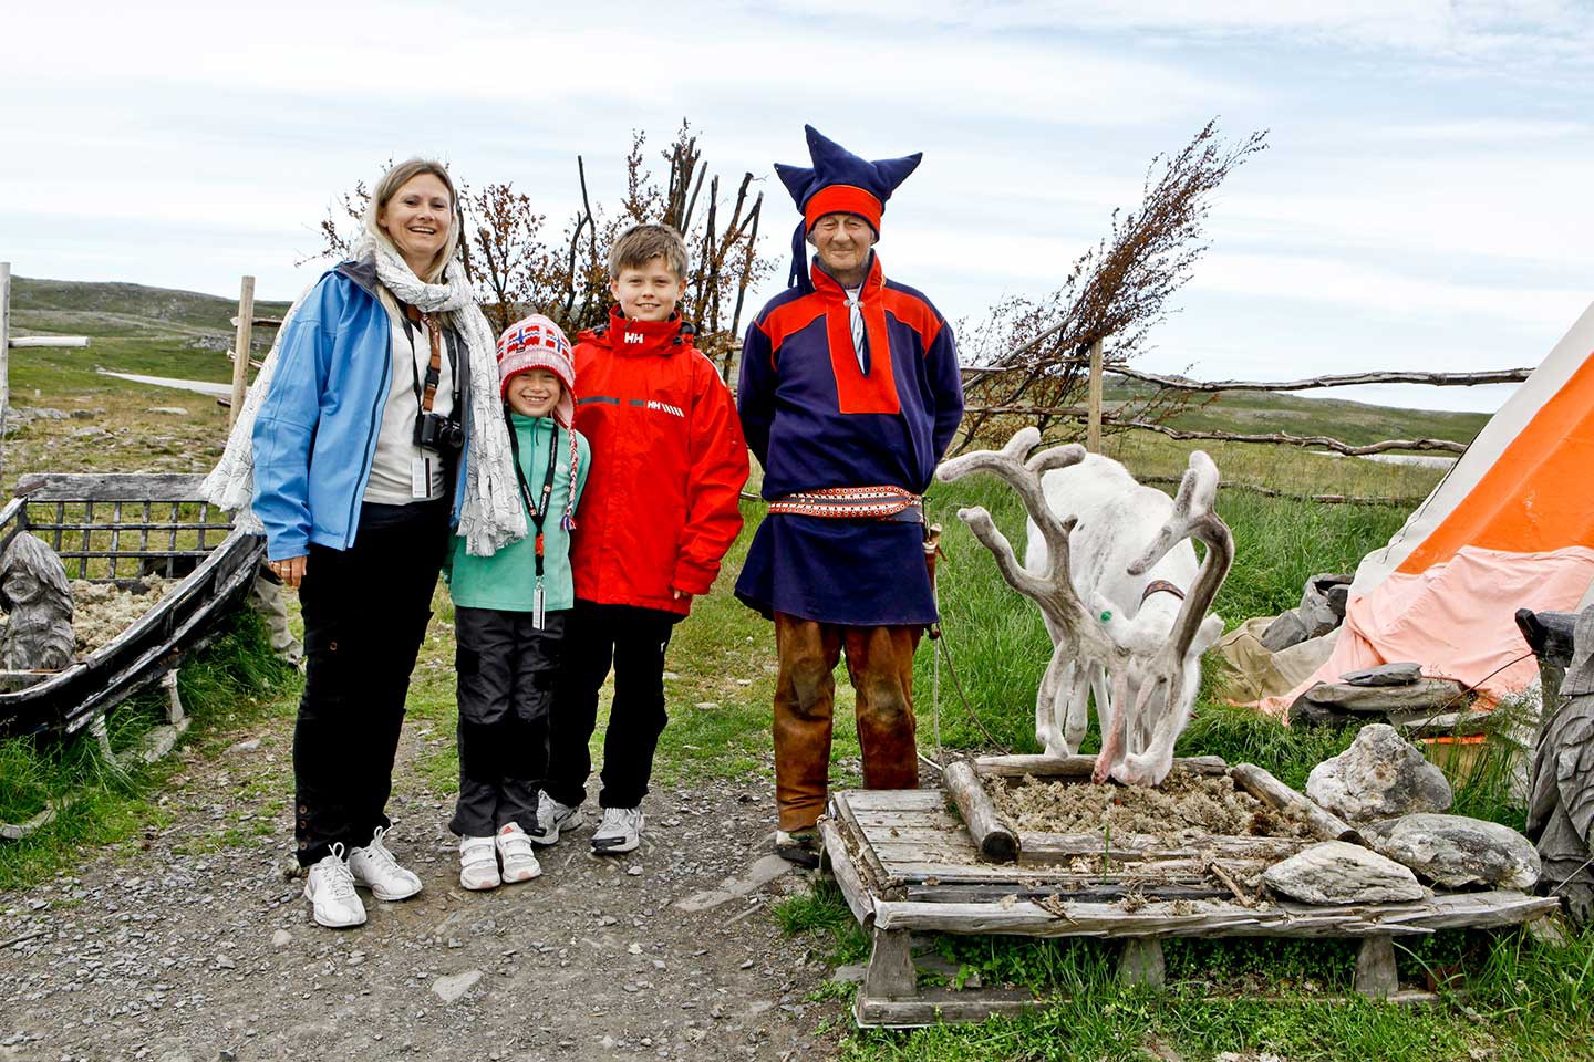
M 679 318 L 626 320 L 575 344 L 575 428 L 591 443 L 571 535 L 575 595 L 685 615 L 741 530 L 748 444 L 714 365 Z

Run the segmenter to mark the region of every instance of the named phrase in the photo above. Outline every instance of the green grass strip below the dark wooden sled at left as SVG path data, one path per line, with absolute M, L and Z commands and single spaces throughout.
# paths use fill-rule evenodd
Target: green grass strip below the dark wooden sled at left
M 298 683 L 298 672 L 271 654 L 260 618 L 238 611 L 226 632 L 179 670 L 179 693 L 193 718 L 179 748 L 217 756 L 238 728 L 290 713 Z M 166 691 L 153 686 L 112 710 L 112 750 L 134 748 L 164 723 L 164 709 Z M 123 842 L 147 825 L 164 825 L 169 812 L 151 798 L 180 767 L 182 756 L 174 753 L 153 766 L 120 771 L 88 734 L 0 740 L 0 822 L 24 822 L 49 801 L 72 801 L 43 830 L 0 842 L 0 890 L 43 880 L 77 861 L 84 847 Z

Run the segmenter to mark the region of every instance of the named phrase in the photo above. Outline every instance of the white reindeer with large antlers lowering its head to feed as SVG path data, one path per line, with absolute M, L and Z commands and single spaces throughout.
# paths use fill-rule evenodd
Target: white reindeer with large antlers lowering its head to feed
M 1087 454 L 1082 446 L 1070 444 L 1041 451 L 1025 460 L 1039 441 L 1036 428 L 1023 428 L 1001 451 L 976 451 L 945 462 L 936 478 L 952 482 L 976 471 L 999 476 L 1019 492 L 1046 545 L 1046 570 L 1031 572 L 1019 564 L 990 513 L 980 506 L 958 510 L 958 519 L 996 557 L 996 567 L 1007 584 L 1039 605 L 1052 635 L 1052 659 L 1036 691 L 1036 737 L 1049 753 L 1076 752 L 1084 732 L 1089 689 L 1095 685 L 1101 755 L 1097 758 L 1093 780 L 1113 777 L 1129 785 L 1159 785 L 1173 764 L 1173 744 L 1189 723 L 1200 680 L 1200 654 L 1223 632 L 1223 621 L 1207 616 L 1207 608 L 1234 562 L 1234 538 L 1213 510 L 1218 467 L 1207 454 L 1192 452 L 1172 505 L 1167 505 L 1167 495 L 1152 492 L 1162 500 L 1157 513 L 1164 522 L 1138 556 L 1129 554 L 1133 559 L 1127 565 L 1119 557 L 1119 567 L 1127 572 L 1090 572 L 1086 578 L 1076 578 L 1082 573 L 1076 572 L 1079 559 L 1071 556 L 1070 546 L 1081 516 L 1058 517 L 1047 505 L 1042 476 L 1079 465 L 1087 460 Z M 1116 462 L 1106 463 L 1122 473 Z M 1129 489 L 1149 490 L 1135 484 L 1127 473 L 1122 478 Z M 1090 519 L 1097 519 L 1097 514 Z M 1119 519 L 1122 521 L 1122 514 Z M 1122 524 L 1111 527 L 1111 533 L 1132 543 L 1144 529 Z M 1125 605 L 1103 595 L 1100 586 L 1105 575 L 1143 576 L 1186 538 L 1205 543 L 1207 557 L 1194 578 L 1188 580 L 1188 586 L 1172 588 L 1183 594 L 1183 600 L 1176 615 L 1160 629 L 1148 629 L 1125 615 L 1138 611 L 1144 597 Z M 1183 549 L 1189 551 L 1189 568 L 1194 568 L 1194 551 L 1189 546 Z M 1098 681 L 1092 683 L 1093 677 Z M 1068 707 L 1071 740 L 1063 740 L 1055 724 L 1049 726 L 1058 705 Z M 1063 744 L 1063 748 L 1058 750 L 1057 744 Z

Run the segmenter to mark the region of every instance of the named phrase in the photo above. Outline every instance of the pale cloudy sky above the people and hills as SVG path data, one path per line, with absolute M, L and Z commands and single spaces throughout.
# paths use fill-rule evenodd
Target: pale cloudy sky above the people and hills
M 252 274 L 287 299 L 325 266 L 295 263 L 333 197 L 389 158 L 512 182 L 563 221 L 577 154 L 612 204 L 631 132 L 663 146 L 682 118 L 725 183 L 759 180 L 783 255 L 771 162 L 805 164 L 811 123 L 866 158 L 925 153 L 880 256 L 972 322 L 1055 290 L 1152 156 L 1216 118 L 1269 150 L 1218 191 L 1140 368 L 1537 365 L 1594 299 L 1588 0 L 8 0 L 0 40 L 0 261 L 24 277 L 234 295 Z

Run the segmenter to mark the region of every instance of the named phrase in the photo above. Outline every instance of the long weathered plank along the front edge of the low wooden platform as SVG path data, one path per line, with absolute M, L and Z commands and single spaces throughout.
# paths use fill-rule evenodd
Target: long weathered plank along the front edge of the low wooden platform
M 1060 900 L 1046 908 L 1019 900 L 990 903 L 875 903 L 875 930 L 1011 933 L 1019 936 L 1422 936 L 1435 930 L 1516 925 L 1559 911 L 1554 896 L 1517 892 L 1441 893 L 1431 900 L 1318 906 L 1272 903 L 1247 908 L 1215 900 L 1154 903 L 1125 911 L 1116 903 Z

